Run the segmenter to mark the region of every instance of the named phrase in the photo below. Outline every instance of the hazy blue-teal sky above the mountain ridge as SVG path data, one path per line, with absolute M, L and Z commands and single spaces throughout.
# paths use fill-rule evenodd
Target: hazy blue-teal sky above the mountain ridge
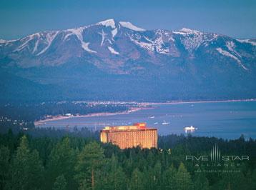
M 144 29 L 187 27 L 256 38 L 255 0 L 0 0 L 0 39 L 105 19 L 130 21 Z

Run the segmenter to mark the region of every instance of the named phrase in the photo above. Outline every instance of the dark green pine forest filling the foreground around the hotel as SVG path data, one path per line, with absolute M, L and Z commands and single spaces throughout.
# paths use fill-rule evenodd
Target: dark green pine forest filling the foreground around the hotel
M 121 150 L 95 136 L 0 134 L 0 189 L 256 189 L 256 141 L 159 136 L 159 149 Z M 250 154 L 229 171 L 195 166 L 186 154 L 205 154 L 212 144 Z M 218 169 L 225 170 L 225 166 Z

